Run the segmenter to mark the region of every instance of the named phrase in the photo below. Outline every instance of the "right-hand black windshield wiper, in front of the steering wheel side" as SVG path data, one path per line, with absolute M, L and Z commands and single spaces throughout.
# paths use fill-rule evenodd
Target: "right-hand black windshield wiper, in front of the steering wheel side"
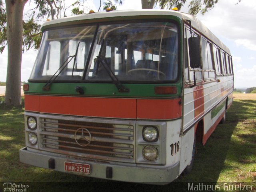
M 101 55 L 97 56 L 97 59 L 100 61 L 100 63 L 102 64 L 102 66 L 104 67 L 104 69 L 106 70 L 106 72 L 108 73 L 109 77 L 111 78 L 111 80 L 113 81 L 113 83 L 116 85 L 116 88 L 118 89 L 118 92 L 125 92 L 128 93 L 130 91 L 130 89 L 126 89 L 124 88 L 124 85 L 122 85 L 122 83 L 119 81 L 119 79 L 116 77 L 115 73 L 110 69 L 110 67 L 108 66 L 108 62 L 106 60 L 106 57 L 103 57 Z

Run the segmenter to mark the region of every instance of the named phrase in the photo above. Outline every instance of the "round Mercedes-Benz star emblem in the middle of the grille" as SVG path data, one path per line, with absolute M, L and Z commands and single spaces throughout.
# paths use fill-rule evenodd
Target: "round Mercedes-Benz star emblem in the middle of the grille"
M 90 134 L 88 129 L 79 128 L 76 130 L 75 140 L 78 145 L 87 146 L 88 144 L 90 144 L 91 139 L 92 139 L 92 135 Z M 85 141 L 85 142 L 82 142 L 82 141 Z

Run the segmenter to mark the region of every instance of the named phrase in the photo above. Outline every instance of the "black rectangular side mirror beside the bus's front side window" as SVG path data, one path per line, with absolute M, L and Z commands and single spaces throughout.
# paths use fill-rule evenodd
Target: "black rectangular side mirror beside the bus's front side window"
M 199 68 L 200 67 L 199 38 L 197 37 L 188 38 L 188 48 L 189 48 L 190 67 Z

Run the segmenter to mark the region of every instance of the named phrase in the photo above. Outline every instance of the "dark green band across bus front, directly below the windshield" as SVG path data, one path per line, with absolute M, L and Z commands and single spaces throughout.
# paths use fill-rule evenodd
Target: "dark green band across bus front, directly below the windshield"
M 25 94 L 42 95 L 79 95 L 76 92 L 76 86 L 82 87 L 84 95 L 81 96 L 104 96 L 104 97 L 180 97 L 180 83 L 173 84 L 123 84 L 125 88 L 130 89 L 129 93 L 119 93 L 114 83 L 52 83 L 49 91 L 43 91 L 46 83 L 26 83 L 29 85 L 29 91 Z M 154 88 L 156 86 L 176 86 L 177 94 L 156 95 Z

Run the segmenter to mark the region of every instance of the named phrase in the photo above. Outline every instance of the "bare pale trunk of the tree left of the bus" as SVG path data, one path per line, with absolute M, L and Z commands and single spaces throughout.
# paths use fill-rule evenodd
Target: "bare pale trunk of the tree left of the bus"
M 8 64 L 6 76 L 6 105 L 21 105 L 22 17 L 28 0 L 5 0 L 7 19 Z

